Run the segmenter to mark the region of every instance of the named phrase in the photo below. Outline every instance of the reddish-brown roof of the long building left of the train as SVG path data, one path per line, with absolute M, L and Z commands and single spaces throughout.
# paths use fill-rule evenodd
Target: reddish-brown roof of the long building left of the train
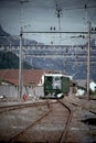
M 49 73 L 49 70 L 23 69 L 23 85 L 30 86 L 32 84 L 40 84 L 41 77 L 44 73 Z M 0 79 L 10 82 L 14 86 L 19 86 L 19 69 L 0 69 Z

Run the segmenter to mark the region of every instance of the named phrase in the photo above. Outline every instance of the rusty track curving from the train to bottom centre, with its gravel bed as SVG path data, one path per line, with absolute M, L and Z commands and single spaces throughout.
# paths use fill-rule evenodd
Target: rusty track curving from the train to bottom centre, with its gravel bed
M 49 110 L 47 112 L 43 113 L 39 119 L 36 119 L 34 122 L 32 122 L 30 125 L 28 125 L 24 130 L 22 130 L 21 132 L 19 132 L 17 135 L 12 136 L 8 143 L 22 143 L 22 142 L 41 142 L 41 143 L 44 143 L 44 142 L 51 142 L 51 143 L 63 143 L 65 142 L 65 139 L 66 139 L 66 135 L 67 135 L 67 132 L 68 132 L 68 128 L 70 128 L 70 122 L 71 122 L 71 119 L 72 119 L 72 111 L 70 109 L 70 107 L 67 107 L 64 102 L 62 102 L 61 100 L 57 100 L 55 102 L 51 102 L 51 101 L 47 101 L 47 107 L 49 107 Z M 60 108 L 63 113 L 63 117 L 62 113 L 60 113 L 60 110 L 56 109 L 56 108 Z M 58 110 L 55 112 L 55 110 Z M 63 111 L 64 110 L 64 111 Z M 53 118 L 53 119 L 52 119 Z M 64 119 L 63 119 L 64 118 Z M 56 120 L 57 119 L 61 119 L 58 121 L 58 123 L 62 122 L 62 125 L 61 124 L 55 124 L 56 127 L 62 127 L 62 130 L 54 127 L 54 122 L 57 122 Z M 62 120 L 63 119 L 63 120 Z M 52 121 L 51 121 L 52 120 Z M 53 122 L 53 124 L 51 124 L 50 122 Z M 42 124 L 42 125 L 41 125 Z M 50 130 L 51 125 L 53 125 L 51 128 L 51 130 L 55 130 L 56 128 L 56 131 L 46 131 L 45 129 L 45 132 L 42 132 L 41 130 L 36 132 L 36 135 L 41 134 L 39 132 L 42 132 L 42 138 L 38 136 L 39 139 L 36 140 L 35 138 L 31 139 L 31 136 L 29 135 L 31 133 L 32 130 L 34 130 L 38 125 L 41 125 L 40 129 L 47 127 L 47 130 Z M 50 128 L 49 128 L 50 127 Z M 58 130 L 58 131 L 57 131 Z M 52 139 L 49 139 L 49 134 L 52 134 L 53 133 L 53 138 Z M 46 138 L 44 138 L 44 135 Z M 56 140 L 55 140 L 55 135 L 56 135 Z M 29 139 L 31 141 L 29 141 Z

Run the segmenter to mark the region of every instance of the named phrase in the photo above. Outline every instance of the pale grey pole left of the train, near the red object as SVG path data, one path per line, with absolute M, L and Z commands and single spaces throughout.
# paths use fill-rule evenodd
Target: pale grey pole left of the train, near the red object
M 20 63 L 19 63 L 19 95 L 20 95 L 20 98 L 22 97 L 22 66 L 23 66 L 23 63 L 22 63 L 22 35 L 23 35 L 23 31 L 22 31 L 22 28 L 21 28 L 21 31 L 20 31 Z

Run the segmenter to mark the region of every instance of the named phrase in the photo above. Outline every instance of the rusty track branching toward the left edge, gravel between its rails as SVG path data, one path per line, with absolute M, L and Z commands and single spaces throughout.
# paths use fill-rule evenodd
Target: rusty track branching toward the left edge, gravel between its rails
M 45 111 L 42 111 L 41 112 L 41 110 L 42 110 L 42 107 L 45 109 Z M 1 109 L 0 109 L 0 121 L 1 121 L 1 123 L 0 123 L 0 143 L 8 143 L 8 142 L 11 142 L 11 138 L 10 136 L 12 136 L 12 134 L 13 134 L 13 136 L 14 138 L 17 138 L 17 135 L 19 135 L 19 134 L 22 134 L 22 132 L 24 131 L 25 132 L 25 130 L 28 130 L 29 128 L 30 128 L 30 125 L 33 125 L 33 124 L 35 124 L 38 121 L 40 121 L 42 118 L 44 118 L 47 113 L 49 113 L 49 102 L 47 101 L 43 101 L 43 102 L 35 102 L 35 103 L 24 103 L 24 105 L 13 105 L 13 106 L 6 106 L 6 107 L 1 107 Z M 24 112 L 23 110 L 28 110 L 28 109 L 35 109 L 35 110 L 40 110 L 39 111 L 39 116 L 36 116 L 36 114 L 33 114 L 33 120 L 34 121 L 31 121 L 31 124 L 29 125 L 28 123 L 28 125 L 25 127 L 24 125 L 24 121 L 17 121 L 17 117 L 19 116 L 19 114 L 17 114 L 18 112 L 20 112 L 20 114 L 21 114 L 21 111 L 22 112 Z M 26 112 L 26 111 L 25 111 Z M 38 112 L 38 111 L 36 111 Z M 13 116 L 12 116 L 13 114 Z M 24 114 L 22 114 L 22 116 L 24 116 Z M 28 116 L 28 114 L 25 114 L 25 116 Z M 35 116 L 35 118 L 34 118 L 34 116 Z M 8 117 L 8 119 L 7 119 L 7 117 Z M 12 119 L 12 118 L 15 118 L 15 120 L 14 119 Z M 36 118 L 36 117 L 39 117 L 39 118 Z M 3 119 L 2 119 L 3 118 Z M 7 121 L 4 121 L 4 118 L 6 118 L 6 120 Z M 21 118 L 21 117 L 19 117 L 19 118 Z M 26 117 L 24 117 L 24 118 L 26 118 Z M 21 119 L 22 120 L 22 119 Z M 4 121 L 4 122 L 3 122 Z M 3 123 L 2 123 L 3 122 Z M 10 130 L 10 128 L 19 128 L 19 124 L 18 124 L 18 122 L 20 122 L 19 124 L 21 125 L 22 124 L 22 122 L 23 122 L 23 129 L 20 129 L 20 131 L 11 131 Z M 3 127 L 2 127 L 2 124 L 3 124 Z M 4 129 L 6 128 L 6 129 Z M 8 129 L 9 128 L 9 129 Z M 12 132 L 14 132 L 14 133 L 12 133 Z M 3 135 L 3 134 L 6 134 L 6 135 Z M 9 134 L 9 135 L 8 135 Z M 17 135 L 14 135 L 14 134 L 17 134 Z M 3 138 L 4 136 L 4 138 Z M 13 138 L 13 139 L 14 139 Z M 10 140 L 9 140 L 10 139 Z

